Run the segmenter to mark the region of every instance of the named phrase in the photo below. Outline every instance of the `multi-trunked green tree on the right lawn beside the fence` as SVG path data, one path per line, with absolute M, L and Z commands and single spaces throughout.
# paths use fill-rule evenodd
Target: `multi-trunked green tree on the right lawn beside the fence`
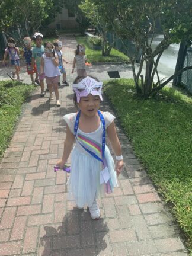
M 88 1 L 88 0 L 87 0 Z M 153 97 L 167 81 L 154 82 L 158 73 L 159 59 L 171 43 L 192 40 L 192 5 L 191 0 L 89 0 L 99 5 L 104 21 L 113 25 L 113 31 L 121 40 L 127 39 L 135 44 L 137 50 L 142 50 L 140 68 L 136 73 L 135 62 L 137 54 L 127 54 L 132 63 L 133 78 L 137 94 L 142 98 Z M 152 49 L 152 40 L 161 25 L 164 39 Z M 139 78 L 145 63 L 145 75 L 139 84 Z M 190 68 L 190 67 L 188 67 Z M 173 75 L 173 74 L 171 74 Z M 177 76 L 177 75 L 175 75 Z M 171 77 L 171 79 L 173 79 Z

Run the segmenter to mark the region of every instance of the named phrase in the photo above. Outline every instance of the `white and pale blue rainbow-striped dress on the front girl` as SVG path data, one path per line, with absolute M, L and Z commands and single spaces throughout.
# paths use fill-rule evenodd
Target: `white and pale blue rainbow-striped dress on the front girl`
M 107 127 L 112 123 L 115 117 L 109 112 L 103 112 L 102 114 L 107 130 Z M 66 114 L 63 119 L 74 134 L 76 113 Z M 80 142 L 86 148 L 101 157 L 102 133 L 103 124 L 101 122 L 95 132 L 85 133 L 79 128 L 77 130 L 77 139 L 71 155 L 71 174 L 68 181 L 68 191 L 69 196 L 75 199 L 78 207 L 92 206 L 94 199 L 97 199 L 100 194 L 106 191 L 106 184 L 100 184 L 100 172 L 103 170 L 102 163 L 85 151 L 79 144 Z M 107 145 L 105 145 L 104 158 L 107 163 L 108 173 L 110 174 L 108 183 L 110 182 L 110 188 L 111 191 L 113 191 L 113 188 L 118 186 L 117 175 L 114 170 L 114 161 Z

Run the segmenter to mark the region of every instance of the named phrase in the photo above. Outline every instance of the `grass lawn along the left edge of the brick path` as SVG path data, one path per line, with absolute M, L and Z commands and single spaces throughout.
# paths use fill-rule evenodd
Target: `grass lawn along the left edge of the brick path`
M 34 89 L 34 85 L 0 81 L 0 160 L 12 138 L 22 104 Z

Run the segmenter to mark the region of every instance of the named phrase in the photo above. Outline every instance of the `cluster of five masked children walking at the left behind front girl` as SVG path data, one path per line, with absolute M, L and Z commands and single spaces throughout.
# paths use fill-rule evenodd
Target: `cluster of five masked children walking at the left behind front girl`
M 43 46 L 43 35 L 36 32 L 33 35 L 35 47 L 32 47 L 32 40 L 26 36 L 23 39 L 24 49 L 23 55 L 27 67 L 27 73 L 31 77 L 32 84 L 39 84 L 41 87 L 41 97 L 44 97 L 46 91 L 50 92 L 50 100 L 53 100 L 52 90 L 55 91 L 56 105 L 60 106 L 58 86 L 61 86 L 59 81 L 60 75 L 63 75 L 62 84 L 68 86 L 66 81 L 66 71 L 63 62 L 68 63 L 62 55 L 62 42 L 56 40 L 52 43 L 46 41 Z M 15 40 L 12 37 L 7 39 L 7 48 L 5 49 L 3 65 L 9 54 L 11 65 L 14 66 L 15 71 L 12 72 L 12 78 L 17 75 L 18 81 L 23 81 L 20 78 L 20 58 L 19 49 L 16 46 Z M 36 78 L 34 79 L 34 73 Z M 44 90 L 44 78 L 46 78 L 47 89 Z

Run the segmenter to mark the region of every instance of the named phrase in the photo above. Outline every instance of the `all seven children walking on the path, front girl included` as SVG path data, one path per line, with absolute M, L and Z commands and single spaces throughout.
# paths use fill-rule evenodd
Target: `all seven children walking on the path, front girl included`
M 24 37 L 24 57 L 27 66 L 27 73 L 31 76 L 32 83 L 39 82 L 41 97 L 44 97 L 44 78 L 50 93 L 50 100 L 53 100 L 52 91 L 56 96 L 56 105 L 59 101 L 59 77 L 63 74 L 63 84 L 66 82 L 66 71 L 60 41 L 53 44 L 46 41 L 43 44 L 43 35 L 35 33 L 33 40 L 36 47 L 31 47 L 30 37 Z M 5 49 L 4 63 L 9 53 L 11 64 L 15 66 L 17 79 L 20 79 L 20 65 L 18 48 L 13 39 L 8 39 L 8 47 Z M 78 44 L 73 60 L 77 77 L 72 84 L 74 91 L 74 102 L 78 112 L 66 114 L 63 118 L 66 121 L 66 139 L 62 159 L 57 162 L 57 167 L 63 169 L 71 155 L 71 173 L 68 181 L 69 194 L 75 199 L 76 206 L 83 208 L 88 206 L 91 218 L 100 218 L 100 209 L 97 199 L 102 193 L 111 193 L 117 187 L 117 176 L 123 168 L 123 156 L 121 145 L 116 133 L 114 116 L 109 112 L 100 111 L 100 103 L 103 101 L 101 89 L 103 82 L 97 78 L 87 76 L 85 63 L 85 47 Z M 34 80 L 33 75 L 36 74 Z M 14 75 L 13 74 L 13 75 Z M 116 155 L 116 164 L 106 145 L 106 133 Z

